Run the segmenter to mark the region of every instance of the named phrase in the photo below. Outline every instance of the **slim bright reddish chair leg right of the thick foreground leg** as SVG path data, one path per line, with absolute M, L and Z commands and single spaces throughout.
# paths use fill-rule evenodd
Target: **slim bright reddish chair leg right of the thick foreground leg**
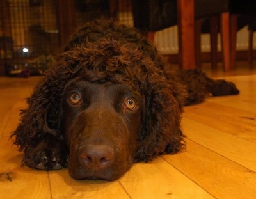
M 230 14 L 221 13 L 221 47 L 223 53 L 224 70 L 230 70 Z

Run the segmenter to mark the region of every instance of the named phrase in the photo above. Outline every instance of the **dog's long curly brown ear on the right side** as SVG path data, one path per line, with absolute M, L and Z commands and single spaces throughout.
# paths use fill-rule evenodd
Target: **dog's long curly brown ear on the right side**
M 185 88 L 163 76 L 148 76 L 147 82 L 137 161 L 150 161 L 159 154 L 174 154 L 186 147 L 180 129 Z

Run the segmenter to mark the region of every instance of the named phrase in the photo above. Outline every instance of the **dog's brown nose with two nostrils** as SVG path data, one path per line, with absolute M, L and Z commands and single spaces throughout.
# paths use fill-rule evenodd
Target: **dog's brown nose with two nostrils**
M 86 145 L 80 154 L 84 166 L 92 170 L 102 170 L 113 162 L 114 149 L 107 145 Z

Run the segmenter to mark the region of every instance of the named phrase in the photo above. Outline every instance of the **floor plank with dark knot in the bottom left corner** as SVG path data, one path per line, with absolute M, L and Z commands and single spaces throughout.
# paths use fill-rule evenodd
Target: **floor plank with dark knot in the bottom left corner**
M 0 142 L 0 198 L 51 198 L 47 171 L 20 166 L 23 154 L 8 138 Z

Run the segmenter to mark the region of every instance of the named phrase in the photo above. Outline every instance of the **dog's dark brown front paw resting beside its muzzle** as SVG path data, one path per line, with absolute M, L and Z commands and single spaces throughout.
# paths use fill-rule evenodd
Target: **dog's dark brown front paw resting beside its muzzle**
M 67 146 L 50 136 L 31 142 L 25 149 L 23 163 L 40 170 L 58 170 L 67 166 Z

